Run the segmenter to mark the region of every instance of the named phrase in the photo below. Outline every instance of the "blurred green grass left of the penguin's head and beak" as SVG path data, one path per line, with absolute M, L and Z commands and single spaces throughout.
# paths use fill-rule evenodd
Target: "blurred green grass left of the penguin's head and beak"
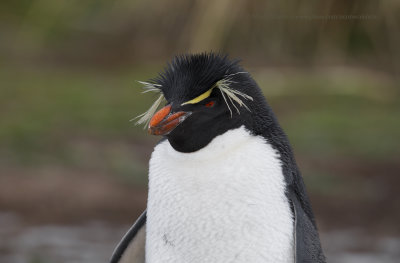
M 142 130 L 129 120 L 152 100 L 140 94 L 135 79 L 142 77 L 149 76 L 135 71 L 1 70 L 0 145 L 25 155 L 69 138 L 140 136 Z

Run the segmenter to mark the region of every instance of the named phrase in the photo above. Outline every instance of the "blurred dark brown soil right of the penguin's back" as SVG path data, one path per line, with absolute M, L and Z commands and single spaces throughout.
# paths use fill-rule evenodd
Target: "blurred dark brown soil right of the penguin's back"
M 311 195 L 320 227 L 362 228 L 371 234 L 400 235 L 400 162 L 340 160 L 320 165 L 348 184 L 345 193 Z

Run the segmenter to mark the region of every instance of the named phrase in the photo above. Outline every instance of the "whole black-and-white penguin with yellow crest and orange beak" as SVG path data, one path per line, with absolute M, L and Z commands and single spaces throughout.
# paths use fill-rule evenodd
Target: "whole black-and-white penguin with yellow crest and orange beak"
M 110 263 L 326 262 L 288 138 L 239 60 L 179 55 L 141 83 L 158 97 L 137 123 L 162 139 Z

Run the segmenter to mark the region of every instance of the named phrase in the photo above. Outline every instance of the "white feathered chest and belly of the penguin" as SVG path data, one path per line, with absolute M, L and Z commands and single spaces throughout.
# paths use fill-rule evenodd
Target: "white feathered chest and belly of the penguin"
M 147 263 L 293 262 L 278 154 L 243 127 L 194 153 L 159 144 L 147 206 Z

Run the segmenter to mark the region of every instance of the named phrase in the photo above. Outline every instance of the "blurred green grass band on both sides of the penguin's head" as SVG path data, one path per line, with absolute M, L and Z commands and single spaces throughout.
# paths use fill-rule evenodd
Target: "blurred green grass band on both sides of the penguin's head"
M 0 70 L 1 162 L 96 166 L 123 178 L 142 178 L 146 160 L 135 145 L 151 147 L 157 138 L 129 120 L 155 97 L 140 94 L 135 80 L 153 77 L 159 69 Z M 297 154 L 399 156 L 400 99 L 394 82 L 351 71 L 337 76 L 255 70 L 253 75 Z

